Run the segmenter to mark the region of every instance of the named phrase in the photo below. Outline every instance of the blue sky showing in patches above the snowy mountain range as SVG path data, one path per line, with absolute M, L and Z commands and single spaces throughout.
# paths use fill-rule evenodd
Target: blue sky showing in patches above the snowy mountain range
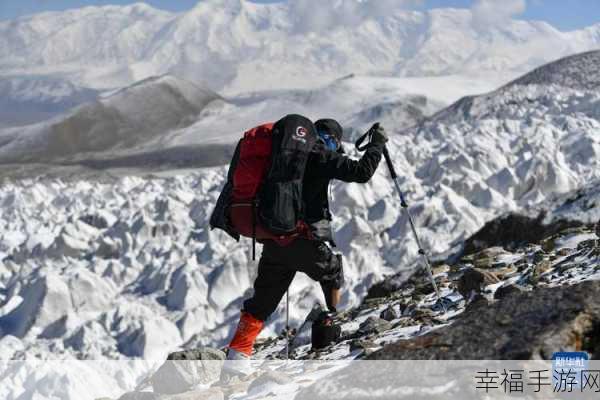
M 193 7 L 199 0 L 145 0 L 146 3 L 173 11 Z M 273 3 L 278 0 L 254 0 Z M 294 0 L 291 0 L 294 1 Z M 501 2 L 503 0 L 495 0 Z M 0 0 L 0 19 L 11 19 L 40 11 L 64 10 L 85 5 L 128 4 L 131 0 Z M 420 8 L 469 8 L 474 0 L 423 0 Z M 600 0 L 527 0 L 525 12 L 518 16 L 550 22 L 562 30 L 577 29 L 600 22 Z

